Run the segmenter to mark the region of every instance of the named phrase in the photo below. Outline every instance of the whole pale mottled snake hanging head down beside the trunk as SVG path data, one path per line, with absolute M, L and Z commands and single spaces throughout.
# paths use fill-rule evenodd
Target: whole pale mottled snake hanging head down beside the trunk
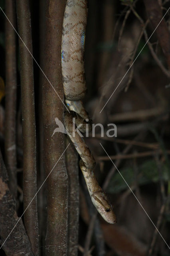
M 97 182 L 94 167 L 95 159 L 79 132 L 73 136 L 73 117 L 75 125 L 90 127 L 91 119 L 85 110 L 82 99 L 87 92 L 84 69 L 85 29 L 87 24 L 87 0 L 67 0 L 61 38 L 61 72 L 65 103 L 69 112 L 65 112 L 64 124 L 67 135 L 73 142 L 81 160 L 79 166 L 83 173 L 91 201 L 108 223 L 116 223 L 117 217 L 107 194 Z

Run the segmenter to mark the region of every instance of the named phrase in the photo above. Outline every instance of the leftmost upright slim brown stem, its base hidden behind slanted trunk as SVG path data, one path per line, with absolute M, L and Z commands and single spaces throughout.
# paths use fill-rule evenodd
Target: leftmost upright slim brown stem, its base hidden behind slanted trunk
M 14 0 L 6 0 L 6 16 L 16 26 Z M 5 86 L 5 162 L 9 176 L 9 187 L 16 198 L 16 32 L 5 20 L 6 86 Z

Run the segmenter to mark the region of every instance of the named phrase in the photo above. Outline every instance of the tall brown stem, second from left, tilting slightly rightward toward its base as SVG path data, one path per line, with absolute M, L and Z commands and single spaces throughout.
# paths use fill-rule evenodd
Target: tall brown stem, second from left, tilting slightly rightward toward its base
M 18 33 L 32 53 L 32 32 L 30 6 L 28 0 L 17 0 Z M 22 136 L 23 136 L 23 200 L 24 210 L 37 192 L 36 180 L 36 120 L 34 106 L 33 59 L 26 46 L 19 40 L 20 79 L 22 96 Z M 32 244 L 32 250 L 38 255 L 38 216 L 37 197 L 24 213 L 24 224 Z

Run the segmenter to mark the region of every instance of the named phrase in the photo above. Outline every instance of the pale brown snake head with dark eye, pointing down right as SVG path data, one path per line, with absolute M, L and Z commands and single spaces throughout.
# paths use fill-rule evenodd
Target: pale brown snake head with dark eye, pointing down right
M 103 190 L 94 192 L 91 195 L 91 200 L 105 221 L 110 224 L 114 224 L 117 222 L 113 206 L 109 201 L 107 194 L 105 194 Z

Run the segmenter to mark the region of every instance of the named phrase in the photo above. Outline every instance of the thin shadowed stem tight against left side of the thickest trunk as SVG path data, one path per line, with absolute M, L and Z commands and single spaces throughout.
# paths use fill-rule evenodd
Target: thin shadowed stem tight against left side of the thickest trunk
M 44 57 L 44 34 L 45 34 L 45 0 L 39 1 L 39 24 L 40 24 L 40 67 L 43 70 Z M 43 166 L 43 117 L 42 117 L 42 80 L 43 73 L 39 71 L 39 89 L 38 89 L 38 188 L 45 180 L 45 172 Z M 46 198 L 45 186 L 42 186 L 38 192 L 38 227 L 39 227 L 39 244 L 40 255 L 45 255 L 45 233 L 46 233 Z

